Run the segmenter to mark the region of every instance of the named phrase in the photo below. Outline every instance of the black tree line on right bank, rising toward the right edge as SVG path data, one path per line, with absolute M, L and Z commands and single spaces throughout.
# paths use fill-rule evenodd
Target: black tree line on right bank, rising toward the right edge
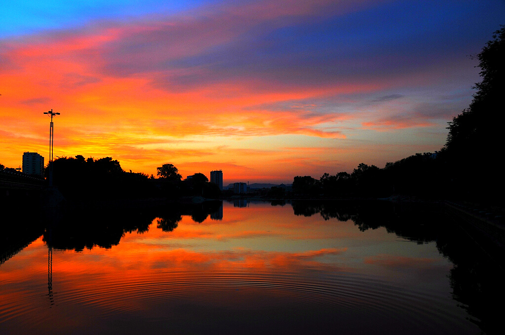
M 381 196 L 393 194 L 460 198 L 503 204 L 502 127 L 505 108 L 505 26 L 494 32 L 476 55 L 482 81 L 469 107 L 448 123 L 445 145 L 417 153 L 383 169 L 361 163 L 351 174 L 325 173 L 321 178 L 296 176 L 293 192 L 314 196 Z

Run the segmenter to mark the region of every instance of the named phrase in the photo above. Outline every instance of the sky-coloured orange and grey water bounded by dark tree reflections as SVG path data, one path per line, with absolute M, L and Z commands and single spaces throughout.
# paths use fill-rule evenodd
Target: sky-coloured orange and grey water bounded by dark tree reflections
M 36 240 L 0 267 L 0 334 L 479 332 L 434 244 L 251 208 L 109 249 Z

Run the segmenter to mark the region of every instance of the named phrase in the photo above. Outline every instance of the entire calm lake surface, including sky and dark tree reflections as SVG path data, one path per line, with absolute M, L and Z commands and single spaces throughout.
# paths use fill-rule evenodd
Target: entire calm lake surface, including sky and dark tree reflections
M 499 320 L 485 305 L 501 272 L 431 210 L 225 201 L 12 220 L 0 333 L 478 334 Z

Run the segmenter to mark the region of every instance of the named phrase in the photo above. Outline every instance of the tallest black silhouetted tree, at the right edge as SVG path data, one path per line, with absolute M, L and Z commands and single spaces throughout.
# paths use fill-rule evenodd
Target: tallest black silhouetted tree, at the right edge
M 442 152 L 448 164 L 453 194 L 482 198 L 501 192 L 503 174 L 486 173 L 468 178 L 484 167 L 499 166 L 505 92 L 505 27 L 495 31 L 477 55 L 482 81 L 470 106 L 449 122 L 447 142 Z

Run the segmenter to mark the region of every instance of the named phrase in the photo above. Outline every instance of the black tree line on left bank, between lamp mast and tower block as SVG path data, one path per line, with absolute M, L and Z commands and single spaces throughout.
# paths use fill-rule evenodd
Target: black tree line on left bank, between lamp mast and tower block
M 49 169 L 45 169 L 47 179 Z M 53 162 L 53 183 L 69 200 L 179 198 L 204 196 L 217 198 L 219 187 L 207 176 L 196 173 L 182 180 L 177 167 L 166 163 L 157 167 L 157 177 L 125 172 L 112 157 L 85 159 L 82 155 L 60 157 Z

